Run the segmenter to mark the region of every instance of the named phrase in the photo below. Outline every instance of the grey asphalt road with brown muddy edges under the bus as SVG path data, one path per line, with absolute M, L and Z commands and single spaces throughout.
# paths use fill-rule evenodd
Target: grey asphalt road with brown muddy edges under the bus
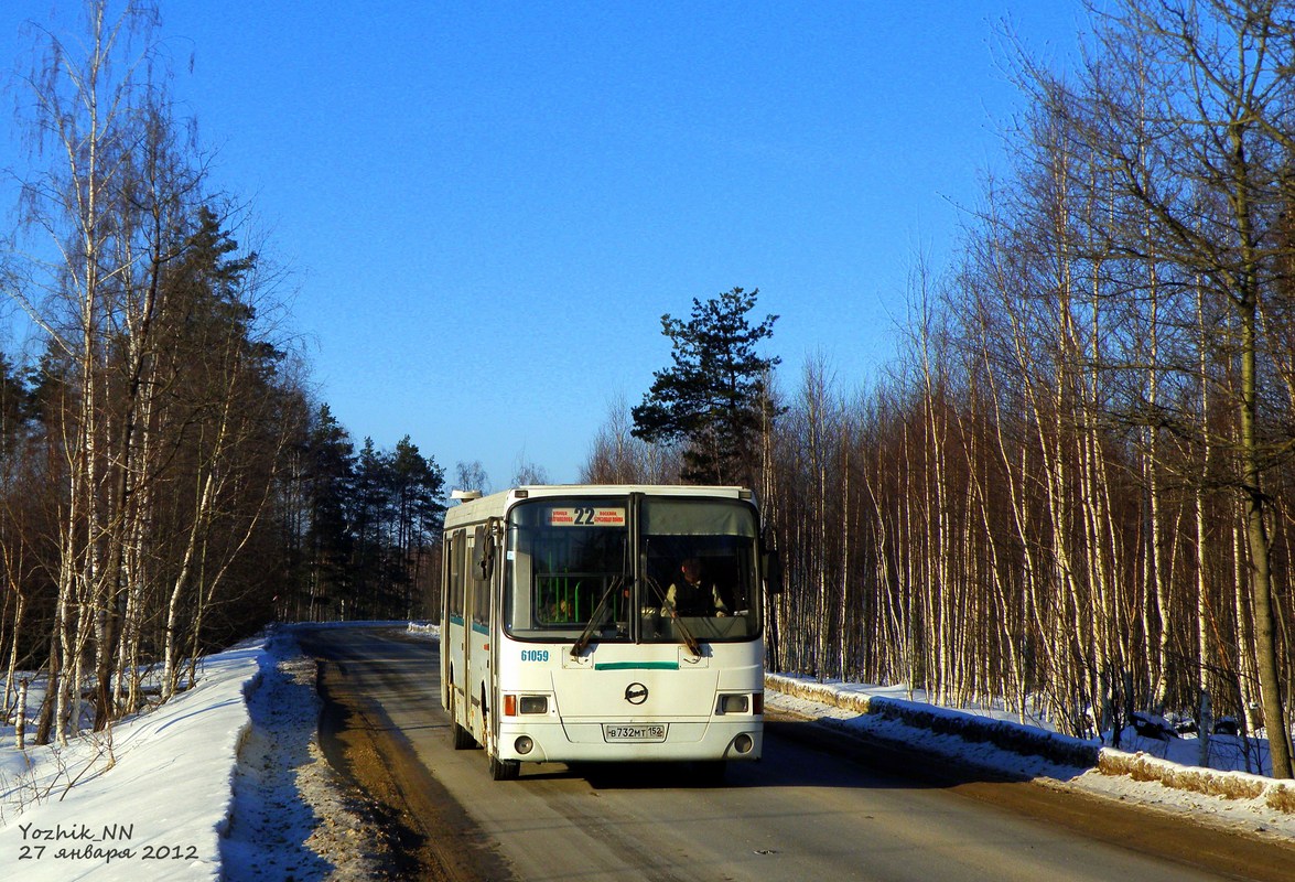
M 522 765 L 455 751 L 436 644 L 394 628 L 299 633 L 321 740 L 386 812 L 405 874 L 434 879 L 1295 879 L 1295 850 L 1109 800 L 931 767 L 771 720 L 721 786 L 684 765 Z M 919 769 L 919 773 L 910 773 Z

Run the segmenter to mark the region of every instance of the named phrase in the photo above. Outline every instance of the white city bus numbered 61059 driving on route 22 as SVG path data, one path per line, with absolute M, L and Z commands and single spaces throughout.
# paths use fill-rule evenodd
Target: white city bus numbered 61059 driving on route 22
M 484 747 L 496 781 L 523 762 L 694 760 L 716 775 L 760 758 L 761 596 L 781 576 L 751 491 L 474 496 L 445 513 L 440 683 L 456 749 Z M 682 584 L 685 561 L 702 591 Z

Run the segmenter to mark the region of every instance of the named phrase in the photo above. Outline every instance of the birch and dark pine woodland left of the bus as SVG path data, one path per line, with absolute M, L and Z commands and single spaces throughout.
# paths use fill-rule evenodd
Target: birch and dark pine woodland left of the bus
M 443 513 L 431 457 L 356 451 L 315 399 L 282 268 L 210 185 L 157 10 L 84 10 L 83 32 L 38 31 L 34 171 L 0 250 L 41 347 L 0 359 L 3 706 L 35 710 L 39 743 L 164 701 L 273 620 L 422 616 Z

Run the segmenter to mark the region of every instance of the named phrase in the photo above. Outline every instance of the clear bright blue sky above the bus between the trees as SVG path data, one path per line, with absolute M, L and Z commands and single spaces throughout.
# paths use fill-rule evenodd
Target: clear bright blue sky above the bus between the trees
M 3 4 L 0 63 L 52 6 L 74 19 L 70 0 Z M 495 488 L 522 460 L 575 481 L 694 297 L 760 289 L 786 389 L 809 356 L 866 386 L 918 254 L 940 262 L 1001 162 L 1020 107 L 1002 21 L 1052 58 L 1083 23 L 1077 0 L 162 14 L 214 184 L 289 269 L 320 398 L 357 443 L 408 434 Z M 0 189 L 5 227 L 13 202 Z

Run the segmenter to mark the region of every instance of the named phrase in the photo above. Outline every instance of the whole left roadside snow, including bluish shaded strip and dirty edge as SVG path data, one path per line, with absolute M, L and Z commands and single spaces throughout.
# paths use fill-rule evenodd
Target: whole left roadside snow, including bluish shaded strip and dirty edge
M 281 628 L 110 737 L 18 751 L 0 729 L 0 878 L 386 877 L 387 838 L 324 758 L 319 712 L 315 662 Z

